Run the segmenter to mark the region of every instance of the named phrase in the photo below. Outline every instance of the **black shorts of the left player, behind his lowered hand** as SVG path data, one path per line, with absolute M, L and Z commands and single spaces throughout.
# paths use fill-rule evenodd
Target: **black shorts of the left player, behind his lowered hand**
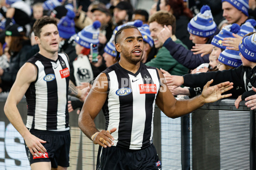
M 32 135 L 39 139 L 47 141 L 42 145 L 47 150 L 47 153 L 41 153 L 39 156 L 33 156 L 29 148 L 26 146 L 26 154 L 29 163 L 35 162 L 51 162 L 52 168 L 69 167 L 69 152 L 70 152 L 70 131 L 49 131 L 49 130 L 29 130 Z

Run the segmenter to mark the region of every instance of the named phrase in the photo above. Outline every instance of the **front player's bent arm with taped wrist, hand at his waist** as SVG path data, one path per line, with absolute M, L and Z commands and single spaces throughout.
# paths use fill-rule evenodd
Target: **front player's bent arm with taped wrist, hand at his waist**
M 84 101 L 78 119 L 78 125 L 83 133 L 91 139 L 94 144 L 99 144 L 102 147 L 111 147 L 111 144 L 113 145 L 111 140 L 114 139 L 113 136 L 111 136 L 111 133 L 116 131 L 116 128 L 113 128 L 110 131 L 102 130 L 99 132 L 93 122 L 107 99 L 107 91 L 108 78 L 105 73 L 101 73 L 94 80 L 92 89 Z

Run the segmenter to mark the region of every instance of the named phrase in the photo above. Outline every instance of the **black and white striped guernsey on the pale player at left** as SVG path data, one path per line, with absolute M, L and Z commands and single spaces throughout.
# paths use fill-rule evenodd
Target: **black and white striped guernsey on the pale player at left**
M 38 70 L 35 82 L 26 91 L 28 115 L 26 127 L 38 130 L 69 129 L 67 94 L 70 67 L 67 55 L 59 53 L 56 61 L 35 54 L 27 62 Z

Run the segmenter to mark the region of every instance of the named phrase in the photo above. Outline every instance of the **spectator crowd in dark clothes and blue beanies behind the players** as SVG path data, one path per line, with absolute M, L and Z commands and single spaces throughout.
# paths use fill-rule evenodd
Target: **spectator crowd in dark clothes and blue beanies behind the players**
M 141 61 L 163 72 L 174 96 L 199 95 L 213 79 L 234 83 L 228 93 L 237 108 L 256 98 L 256 0 L 154 1 L 137 9 L 130 0 L 0 0 L 0 92 L 10 91 L 39 51 L 32 27 L 47 15 L 58 20 L 59 52 L 69 57 L 70 80 L 81 90 L 119 60 L 115 34 L 132 25 L 143 36 Z M 69 99 L 69 111 L 82 107 Z

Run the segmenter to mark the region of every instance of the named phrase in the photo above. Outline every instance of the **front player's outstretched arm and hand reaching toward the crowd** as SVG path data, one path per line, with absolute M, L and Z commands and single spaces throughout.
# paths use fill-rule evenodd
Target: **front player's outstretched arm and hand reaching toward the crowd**
M 232 94 L 221 95 L 225 91 L 233 88 L 233 83 L 223 82 L 215 86 L 209 87 L 213 80 L 207 82 L 204 86 L 202 95 L 196 96 L 189 100 L 177 100 L 169 91 L 163 77 L 163 74 L 158 70 L 160 79 L 162 80 L 160 90 L 157 94 L 156 104 L 166 116 L 171 118 L 176 118 L 183 116 L 187 113 L 200 108 L 204 103 L 215 102 L 219 99 L 229 97 Z

